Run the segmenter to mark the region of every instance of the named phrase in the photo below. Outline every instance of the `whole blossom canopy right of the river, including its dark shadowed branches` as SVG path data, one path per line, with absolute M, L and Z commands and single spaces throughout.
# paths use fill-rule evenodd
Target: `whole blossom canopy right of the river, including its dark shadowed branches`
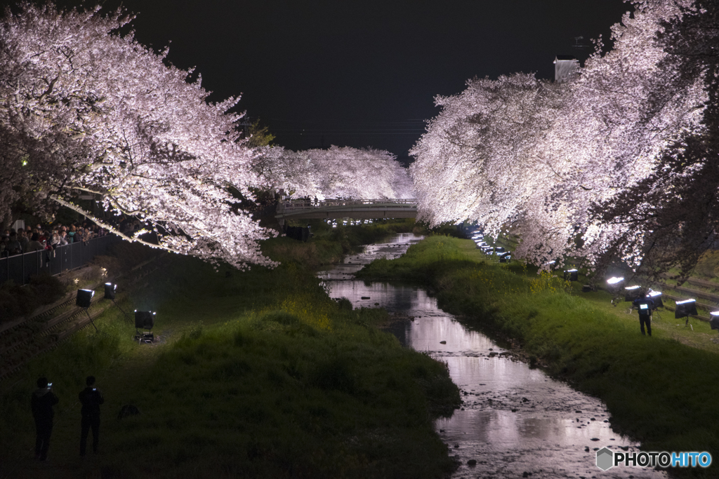
M 536 264 L 692 266 L 719 206 L 716 6 L 633 3 L 613 49 L 597 48 L 577 78 L 475 78 L 436 98 L 441 113 L 411 152 L 423 218 L 511 229 Z

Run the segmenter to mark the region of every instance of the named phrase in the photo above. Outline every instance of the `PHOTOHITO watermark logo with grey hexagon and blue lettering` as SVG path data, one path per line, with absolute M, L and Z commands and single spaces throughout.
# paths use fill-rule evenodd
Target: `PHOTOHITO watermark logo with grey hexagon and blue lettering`
M 615 465 L 640 468 L 708 468 L 712 455 L 708 452 L 614 452 L 607 447 L 597 451 L 597 468 L 608 470 Z

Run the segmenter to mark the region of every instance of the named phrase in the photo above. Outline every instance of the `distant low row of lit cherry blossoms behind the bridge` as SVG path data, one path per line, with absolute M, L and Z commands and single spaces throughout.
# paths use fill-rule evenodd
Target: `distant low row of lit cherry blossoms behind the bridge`
M 298 196 L 324 198 L 413 198 L 407 170 L 384 150 L 335 147 L 293 152 L 262 150 L 257 172 L 267 185 Z

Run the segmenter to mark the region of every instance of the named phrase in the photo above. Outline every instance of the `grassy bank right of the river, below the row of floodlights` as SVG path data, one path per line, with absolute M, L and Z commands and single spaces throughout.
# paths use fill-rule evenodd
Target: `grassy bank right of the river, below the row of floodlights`
M 434 236 L 359 276 L 426 284 L 444 310 L 513 338 L 531 361 L 605 401 L 613 428 L 644 450 L 706 450 L 718 460 L 719 346 L 680 343 L 673 317 L 642 336 L 636 315 L 611 307 L 608 294 L 580 295 L 551 275 L 490 264 L 476 251 L 471 241 Z M 686 334 L 708 334 L 702 328 Z M 718 477 L 719 465 L 674 473 Z

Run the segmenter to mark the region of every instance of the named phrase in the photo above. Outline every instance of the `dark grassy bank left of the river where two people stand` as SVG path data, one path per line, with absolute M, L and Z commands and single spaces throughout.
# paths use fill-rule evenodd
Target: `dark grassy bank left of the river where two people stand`
M 383 310 L 330 299 L 311 261 L 285 238 L 273 241 L 266 251 L 292 258 L 274 270 L 216 272 L 175 257 L 150 276 L 121 306 L 157 312 L 157 344 L 134 343 L 134 327 L 113 308 L 96 321 L 100 332 L 79 332 L 3 384 L 0 477 L 439 478 L 452 470 L 433 429 L 459 404 L 446 366 L 373 327 L 387 320 Z M 91 373 L 106 397 L 101 454 L 81 461 L 77 394 Z M 29 414 L 41 374 L 60 396 L 48 463 L 34 460 Z M 117 419 L 125 404 L 141 414 Z

